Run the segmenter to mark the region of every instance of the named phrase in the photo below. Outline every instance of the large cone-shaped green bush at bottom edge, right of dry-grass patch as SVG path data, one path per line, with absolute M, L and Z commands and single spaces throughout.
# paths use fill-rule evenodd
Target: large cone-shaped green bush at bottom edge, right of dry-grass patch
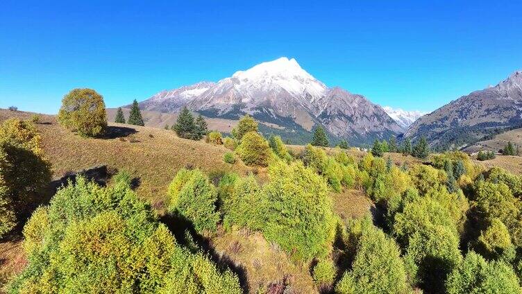
M 352 269 L 344 273 L 336 293 L 407 293 L 404 263 L 398 245 L 368 218 L 350 228 Z

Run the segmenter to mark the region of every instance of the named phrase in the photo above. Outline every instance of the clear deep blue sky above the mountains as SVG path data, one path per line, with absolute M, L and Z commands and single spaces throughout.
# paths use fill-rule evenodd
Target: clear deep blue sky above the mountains
M 4 0 L 0 107 L 56 113 L 75 87 L 116 107 L 287 56 L 328 86 L 431 111 L 522 69 L 521 11 L 522 1 Z

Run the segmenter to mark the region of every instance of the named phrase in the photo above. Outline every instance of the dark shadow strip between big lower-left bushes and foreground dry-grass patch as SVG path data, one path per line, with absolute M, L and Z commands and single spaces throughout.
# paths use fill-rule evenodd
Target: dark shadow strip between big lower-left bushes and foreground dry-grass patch
M 232 272 L 239 278 L 239 285 L 241 288 L 249 288 L 246 269 L 244 266 L 236 264 L 226 254 L 217 252 L 214 249 L 214 246 L 212 246 L 212 241 L 205 236 L 198 234 L 190 220 L 187 220 L 187 218 L 180 215 L 165 214 L 165 216 L 160 217 L 160 221 L 167 225 L 172 234 L 174 234 L 178 243 L 184 245 L 193 253 L 198 252 L 199 248 L 203 249 L 203 252 L 208 253 L 210 259 L 217 264 L 219 270 L 222 272 L 227 269 L 232 270 Z

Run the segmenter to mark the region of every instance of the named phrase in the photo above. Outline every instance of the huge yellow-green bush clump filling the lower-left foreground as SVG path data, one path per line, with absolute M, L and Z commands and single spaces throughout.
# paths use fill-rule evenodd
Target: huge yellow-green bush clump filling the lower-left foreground
M 9 293 L 242 293 L 230 270 L 181 248 L 125 185 L 78 178 L 24 227 L 28 265 Z

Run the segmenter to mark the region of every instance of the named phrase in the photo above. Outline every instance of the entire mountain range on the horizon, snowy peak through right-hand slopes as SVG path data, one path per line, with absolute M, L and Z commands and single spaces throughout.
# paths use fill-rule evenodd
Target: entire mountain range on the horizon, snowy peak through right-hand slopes
M 332 141 L 348 139 L 354 145 L 391 136 L 413 141 L 424 136 L 436 149 L 464 148 L 485 136 L 522 126 L 521 85 L 522 72 L 516 71 L 495 87 L 424 114 L 380 107 L 362 95 L 326 87 L 296 60 L 279 58 L 237 71 L 217 83 L 159 92 L 140 107 L 176 113 L 187 106 L 208 118 L 228 121 L 251 114 L 262 123 L 261 132 L 281 135 L 294 144 L 309 141 L 314 128 L 321 125 Z

